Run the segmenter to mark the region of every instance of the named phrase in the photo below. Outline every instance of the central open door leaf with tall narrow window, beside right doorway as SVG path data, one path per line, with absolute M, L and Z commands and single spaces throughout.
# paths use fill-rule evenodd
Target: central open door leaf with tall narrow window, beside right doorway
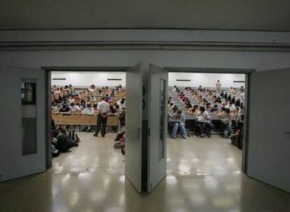
M 162 181 L 167 171 L 168 72 L 150 65 L 149 70 L 149 165 L 147 191 Z

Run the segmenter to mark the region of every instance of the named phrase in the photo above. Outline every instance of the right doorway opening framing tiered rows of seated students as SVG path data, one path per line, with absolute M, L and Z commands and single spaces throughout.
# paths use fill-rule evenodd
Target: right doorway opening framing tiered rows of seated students
M 169 73 L 167 178 L 245 172 L 247 86 L 247 74 Z

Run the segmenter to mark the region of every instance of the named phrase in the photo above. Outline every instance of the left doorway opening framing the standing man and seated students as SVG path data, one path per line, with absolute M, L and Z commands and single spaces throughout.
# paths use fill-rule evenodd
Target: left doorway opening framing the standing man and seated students
M 54 172 L 102 169 L 125 180 L 124 71 L 50 71 Z

